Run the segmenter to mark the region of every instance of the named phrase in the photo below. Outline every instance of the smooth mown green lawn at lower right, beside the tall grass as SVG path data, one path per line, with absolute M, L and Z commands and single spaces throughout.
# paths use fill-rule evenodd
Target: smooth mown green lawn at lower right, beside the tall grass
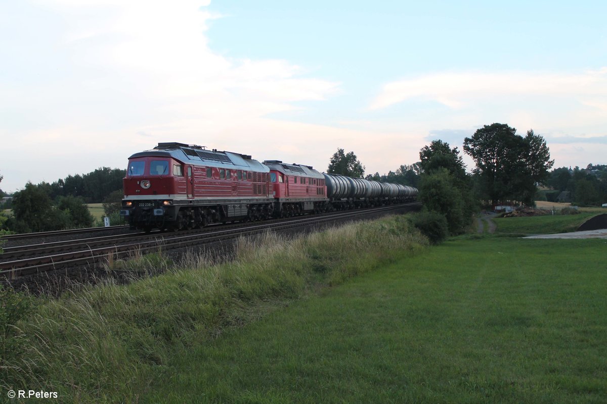
M 183 349 L 141 402 L 605 403 L 606 251 L 452 240 Z

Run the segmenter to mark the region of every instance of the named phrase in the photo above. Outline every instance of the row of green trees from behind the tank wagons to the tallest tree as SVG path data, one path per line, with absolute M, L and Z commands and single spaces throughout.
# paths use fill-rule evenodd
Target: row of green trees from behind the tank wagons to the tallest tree
M 470 173 L 458 148 L 436 139 L 421 148 L 419 162 L 401 165 L 384 176 L 375 173 L 365 178 L 418 188 L 423 211 L 413 222 L 433 242 L 463 233 L 483 206 L 533 205 L 537 185 L 546 184 L 551 178 L 549 170 L 554 160 L 544 138 L 533 130 L 521 136 L 507 124 L 494 123 L 479 128 L 463 143 L 464 152 L 475 162 Z M 337 164 L 339 160 L 346 162 Z M 364 170 L 353 152 L 345 154 L 342 149 L 333 155 L 328 172 L 336 167 Z M 362 177 L 364 171 L 337 173 Z M 586 186 L 584 182 L 580 184 L 578 188 Z

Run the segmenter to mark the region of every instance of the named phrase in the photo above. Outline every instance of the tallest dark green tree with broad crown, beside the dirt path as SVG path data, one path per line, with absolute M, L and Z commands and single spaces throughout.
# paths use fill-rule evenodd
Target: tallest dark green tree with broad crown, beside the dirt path
M 548 177 L 554 161 L 544 138 L 527 131 L 523 137 L 506 124 L 491 124 L 464 139 L 464 151 L 476 162 L 485 199 L 496 204 L 518 200 L 532 204 L 535 183 Z

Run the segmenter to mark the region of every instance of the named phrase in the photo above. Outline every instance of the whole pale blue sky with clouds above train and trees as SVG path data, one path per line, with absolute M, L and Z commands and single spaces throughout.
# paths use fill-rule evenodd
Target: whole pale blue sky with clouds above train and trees
M 365 174 L 508 124 L 607 164 L 607 2 L 0 0 L 0 183 L 181 142 Z M 472 159 L 464 155 L 471 170 Z

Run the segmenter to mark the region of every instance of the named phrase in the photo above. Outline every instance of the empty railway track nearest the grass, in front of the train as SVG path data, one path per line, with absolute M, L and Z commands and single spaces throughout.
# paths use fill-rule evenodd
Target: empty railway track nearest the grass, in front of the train
M 264 231 L 281 231 L 297 227 L 334 222 L 373 213 L 414 209 L 416 202 L 390 205 L 379 208 L 325 213 L 315 216 L 298 216 L 290 219 L 276 219 L 266 222 L 248 222 L 228 226 L 207 227 L 197 231 L 180 231 L 178 233 L 131 233 L 117 236 L 93 237 L 67 242 L 52 242 L 22 247 L 5 248 L 1 257 L 0 276 L 8 280 L 30 274 L 60 268 L 86 267 L 103 265 L 112 259 L 123 259 L 134 251 L 149 253 L 161 248 L 163 251 L 187 248 L 205 243 L 220 242 L 239 236 L 259 234 Z

